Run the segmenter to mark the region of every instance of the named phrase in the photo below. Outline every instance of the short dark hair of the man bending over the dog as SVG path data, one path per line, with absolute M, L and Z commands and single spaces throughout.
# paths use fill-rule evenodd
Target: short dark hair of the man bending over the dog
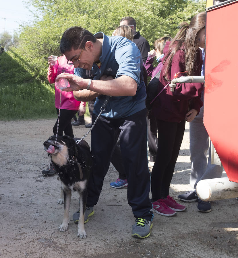
M 90 40 L 96 42 L 96 38 L 91 32 L 82 27 L 71 27 L 65 30 L 60 41 L 60 52 L 64 54 L 66 51 L 83 48 L 85 43 Z M 81 47 L 80 47 L 81 46 Z

